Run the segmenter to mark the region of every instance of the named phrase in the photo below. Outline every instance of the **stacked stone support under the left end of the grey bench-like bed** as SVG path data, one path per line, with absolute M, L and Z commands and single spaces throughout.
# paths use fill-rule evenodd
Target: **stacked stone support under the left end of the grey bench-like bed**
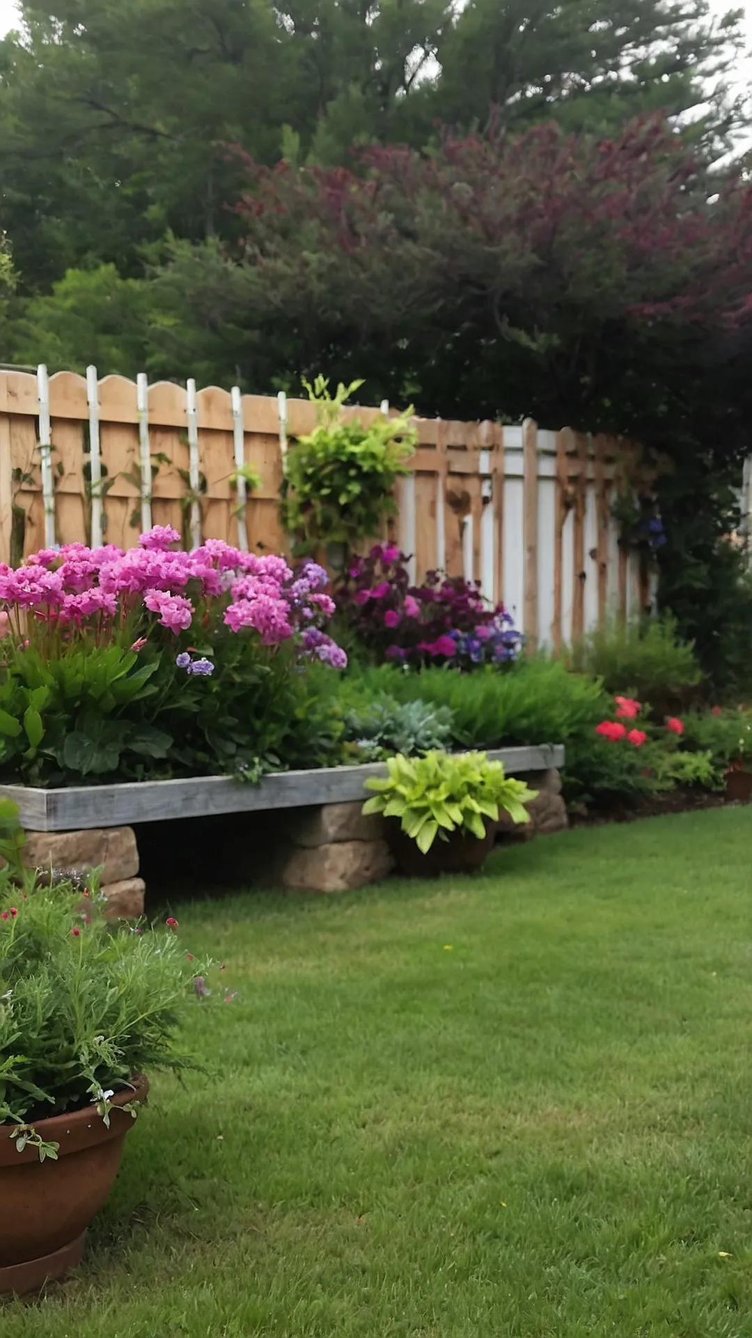
M 27 868 L 99 868 L 107 915 L 130 919 L 143 915 L 146 884 L 138 878 L 138 846 L 132 827 L 92 827 L 76 832 L 29 832 L 24 847 Z

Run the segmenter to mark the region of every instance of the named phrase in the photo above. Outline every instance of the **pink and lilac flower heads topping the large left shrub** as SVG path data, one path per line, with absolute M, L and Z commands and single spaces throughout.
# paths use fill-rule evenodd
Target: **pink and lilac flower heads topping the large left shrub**
M 326 571 L 314 562 L 296 574 L 276 554 L 241 553 L 222 539 L 206 539 L 193 553 L 181 551 L 178 543 L 177 530 L 162 524 L 126 551 L 83 543 L 44 549 L 16 570 L 0 565 L 0 605 L 67 632 L 124 624 L 146 610 L 175 634 L 199 613 L 205 621 L 211 609 L 230 632 L 256 632 L 266 646 L 318 629 L 335 611 L 325 593 Z M 139 630 L 147 632 L 145 621 Z M 306 650 L 305 640 L 301 646 Z

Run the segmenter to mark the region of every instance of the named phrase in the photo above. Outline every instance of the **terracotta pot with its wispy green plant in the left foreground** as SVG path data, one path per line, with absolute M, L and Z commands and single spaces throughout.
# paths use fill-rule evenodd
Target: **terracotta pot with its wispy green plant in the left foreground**
M 95 886 L 0 872 L 0 1295 L 79 1263 L 143 1074 L 187 1066 L 174 1038 L 199 991 L 166 923 L 112 925 Z

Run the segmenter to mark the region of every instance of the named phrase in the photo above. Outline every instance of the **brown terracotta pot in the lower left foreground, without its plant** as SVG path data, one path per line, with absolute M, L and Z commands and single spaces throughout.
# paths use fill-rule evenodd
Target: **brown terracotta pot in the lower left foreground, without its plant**
M 115 1107 L 143 1101 L 145 1077 L 132 1080 Z M 80 1263 L 86 1228 L 103 1207 L 120 1164 L 127 1111 L 110 1112 L 110 1128 L 92 1105 L 35 1120 L 45 1143 L 59 1143 L 58 1161 L 39 1160 L 35 1147 L 16 1151 L 15 1125 L 0 1124 L 0 1297 L 39 1291 Z

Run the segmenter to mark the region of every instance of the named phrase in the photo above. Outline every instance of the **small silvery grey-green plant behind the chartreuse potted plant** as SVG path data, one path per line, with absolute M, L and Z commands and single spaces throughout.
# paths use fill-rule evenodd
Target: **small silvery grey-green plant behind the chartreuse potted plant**
M 392 753 L 415 757 L 446 748 L 452 735 L 452 712 L 426 701 L 395 701 L 379 696 L 344 717 L 345 744 L 355 745 L 359 761 L 380 761 Z

